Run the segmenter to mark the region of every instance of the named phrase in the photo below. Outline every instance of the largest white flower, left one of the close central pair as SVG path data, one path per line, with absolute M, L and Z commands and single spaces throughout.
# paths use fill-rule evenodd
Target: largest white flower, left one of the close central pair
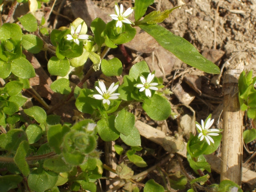
M 99 81 L 99 87 L 95 87 L 96 90 L 99 92 L 99 94 L 93 95 L 95 99 L 103 100 L 103 104 L 107 103 L 110 104 L 109 100 L 118 99 L 118 96 L 120 93 L 113 93 L 117 88 L 118 84 L 114 86 L 115 84 L 112 83 L 111 86 L 106 90 L 106 86 L 103 82 Z

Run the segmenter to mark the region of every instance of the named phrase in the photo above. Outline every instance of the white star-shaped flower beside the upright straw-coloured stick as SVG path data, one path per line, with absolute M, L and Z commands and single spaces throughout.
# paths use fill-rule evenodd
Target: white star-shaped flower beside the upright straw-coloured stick
M 210 141 L 212 143 L 214 143 L 214 140 L 210 136 L 218 136 L 219 135 L 218 133 L 211 133 L 211 132 L 220 132 L 221 131 L 221 129 L 209 129 L 212 126 L 213 122 L 214 122 L 214 119 L 211 120 L 211 118 L 209 118 L 207 120 L 205 126 L 204 126 L 203 120 L 201 120 L 201 125 L 196 124 L 196 127 L 199 130 L 198 138 L 201 137 L 200 141 L 202 141 L 205 138 L 205 140 L 207 141 L 207 143 L 209 145 L 211 144 Z

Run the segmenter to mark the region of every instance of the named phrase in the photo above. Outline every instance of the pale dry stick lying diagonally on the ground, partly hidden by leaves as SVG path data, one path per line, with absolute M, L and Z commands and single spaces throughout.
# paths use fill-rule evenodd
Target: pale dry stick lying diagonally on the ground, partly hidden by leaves
M 135 127 L 140 131 L 141 136 L 153 141 L 154 143 L 157 143 L 163 146 L 163 141 L 164 141 L 164 138 L 166 137 L 166 134 L 163 131 L 153 128 L 150 125 L 147 125 L 141 121 L 135 122 Z M 171 137 L 171 136 L 168 136 L 168 137 Z M 177 154 L 180 154 L 181 156 L 186 158 L 186 147 L 183 149 L 183 151 L 177 151 Z M 209 154 L 209 155 L 205 155 L 205 158 L 207 159 L 207 162 L 211 165 L 212 170 L 214 170 L 217 173 L 221 172 L 221 169 L 220 169 L 221 159 L 219 157 Z M 249 183 L 251 185 L 254 185 L 256 183 L 256 172 L 253 172 L 243 167 L 242 173 L 243 173 L 242 175 L 243 183 Z

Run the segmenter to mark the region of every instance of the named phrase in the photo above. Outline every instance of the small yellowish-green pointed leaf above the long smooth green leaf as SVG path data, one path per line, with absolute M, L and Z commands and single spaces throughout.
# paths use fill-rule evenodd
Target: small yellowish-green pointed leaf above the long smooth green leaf
M 143 20 L 137 22 L 136 24 L 140 23 L 148 23 L 148 24 L 156 24 L 156 23 L 162 23 L 163 20 L 169 17 L 169 14 L 174 10 L 177 9 L 180 6 L 174 7 L 172 9 L 166 9 L 163 12 L 159 11 L 153 11 L 146 15 Z

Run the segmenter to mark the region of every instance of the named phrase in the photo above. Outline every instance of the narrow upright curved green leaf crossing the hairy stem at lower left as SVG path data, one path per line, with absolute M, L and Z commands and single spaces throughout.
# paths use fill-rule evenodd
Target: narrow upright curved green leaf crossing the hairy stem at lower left
M 29 175 L 30 170 L 29 170 L 29 165 L 26 162 L 26 154 L 29 151 L 29 143 L 27 141 L 22 141 L 17 148 L 17 152 L 14 156 L 14 162 L 20 169 L 23 175 L 26 177 Z

